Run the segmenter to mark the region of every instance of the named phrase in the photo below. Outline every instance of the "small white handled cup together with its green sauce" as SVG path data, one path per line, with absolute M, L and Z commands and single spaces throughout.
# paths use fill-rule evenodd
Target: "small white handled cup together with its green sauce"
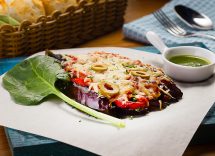
M 173 79 L 198 82 L 215 75 L 215 52 L 195 46 L 169 48 L 152 31 L 146 33 L 146 38 L 161 52 L 164 71 Z

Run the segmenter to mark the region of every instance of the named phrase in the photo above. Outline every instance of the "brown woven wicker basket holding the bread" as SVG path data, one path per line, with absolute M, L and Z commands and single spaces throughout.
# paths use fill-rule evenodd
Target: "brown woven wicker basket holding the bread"
M 123 24 L 127 0 L 81 2 L 65 12 L 54 11 L 36 23 L 0 28 L 0 58 L 30 55 L 45 49 L 62 49 L 110 32 Z

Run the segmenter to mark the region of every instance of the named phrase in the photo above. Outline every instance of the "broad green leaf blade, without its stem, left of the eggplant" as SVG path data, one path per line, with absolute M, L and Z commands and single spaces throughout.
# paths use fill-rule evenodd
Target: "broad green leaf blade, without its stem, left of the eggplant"
M 54 83 L 63 70 L 54 59 L 37 56 L 25 60 L 6 73 L 4 87 L 16 102 L 35 105 L 46 96 L 56 94 Z

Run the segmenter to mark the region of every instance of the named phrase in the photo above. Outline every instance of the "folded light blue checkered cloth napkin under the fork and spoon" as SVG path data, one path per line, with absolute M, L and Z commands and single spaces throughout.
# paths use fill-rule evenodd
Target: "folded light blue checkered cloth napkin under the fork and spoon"
M 198 10 L 209 16 L 215 24 L 215 1 L 214 0 L 172 0 L 167 3 L 162 10 L 172 19 L 174 22 L 185 28 L 187 31 L 193 31 L 198 33 L 211 34 L 215 36 L 215 30 L 210 31 L 196 31 L 192 28 L 186 26 L 174 12 L 174 6 L 177 4 L 183 4 L 188 7 L 193 8 L 194 10 Z M 144 9 L 144 7 L 143 7 Z M 215 26 L 214 26 L 215 27 Z M 194 42 L 202 42 L 205 44 L 210 50 L 215 52 L 215 40 L 204 39 L 199 37 L 189 37 L 189 38 L 180 38 L 175 37 L 169 34 L 165 28 L 155 19 L 153 15 L 148 15 L 137 19 L 133 22 L 124 24 L 123 32 L 127 38 L 140 41 L 147 42 L 145 38 L 145 32 L 147 31 L 156 32 L 167 45 L 172 44 L 184 44 L 184 43 L 194 43 Z

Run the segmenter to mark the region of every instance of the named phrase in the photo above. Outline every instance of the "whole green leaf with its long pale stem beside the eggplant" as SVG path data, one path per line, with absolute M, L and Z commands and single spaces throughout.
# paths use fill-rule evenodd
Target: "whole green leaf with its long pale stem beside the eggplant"
M 49 56 L 36 56 L 8 71 L 3 77 L 3 85 L 17 103 L 37 105 L 48 95 L 54 94 L 82 112 L 106 120 L 117 127 L 125 127 L 122 120 L 95 111 L 64 95 L 55 87 L 57 79 L 68 79 L 60 64 Z

